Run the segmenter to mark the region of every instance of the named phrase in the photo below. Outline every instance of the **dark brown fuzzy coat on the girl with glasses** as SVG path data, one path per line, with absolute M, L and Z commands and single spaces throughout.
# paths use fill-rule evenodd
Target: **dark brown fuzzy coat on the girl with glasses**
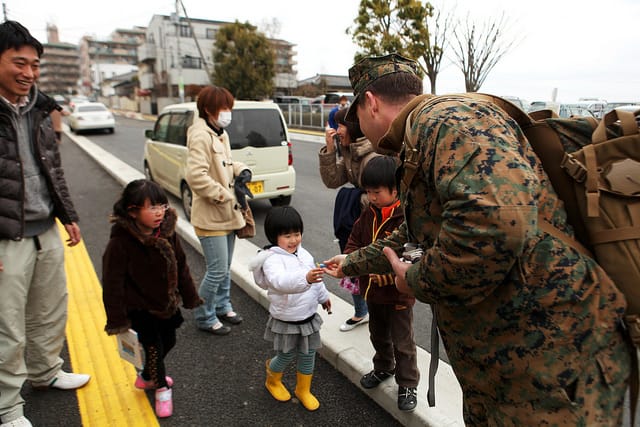
M 102 256 L 102 299 L 109 335 L 131 327 L 128 314 L 146 310 L 160 318 L 202 304 L 180 241 L 173 209 L 167 210 L 158 235 L 144 235 L 120 219 Z

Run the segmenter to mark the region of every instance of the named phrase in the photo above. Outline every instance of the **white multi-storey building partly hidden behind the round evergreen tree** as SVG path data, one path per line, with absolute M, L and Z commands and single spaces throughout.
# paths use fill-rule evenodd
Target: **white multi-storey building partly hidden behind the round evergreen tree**
M 180 91 L 194 96 L 201 86 L 210 84 L 213 45 L 223 21 L 154 15 L 147 26 L 146 41 L 138 47 L 138 79 L 141 92 L 152 99 L 178 97 Z M 297 87 L 294 45 L 270 39 L 276 51 L 277 91 Z M 189 89 L 195 93 L 190 93 Z

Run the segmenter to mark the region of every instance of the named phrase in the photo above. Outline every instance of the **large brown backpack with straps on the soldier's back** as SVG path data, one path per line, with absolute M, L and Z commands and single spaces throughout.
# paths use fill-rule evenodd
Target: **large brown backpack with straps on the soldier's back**
M 549 111 L 528 115 L 507 100 L 479 93 L 430 98 L 423 103 L 469 98 L 496 104 L 519 124 L 564 202 L 576 238 L 545 221 L 539 224 L 545 232 L 593 256 L 613 279 L 627 299 L 625 323 L 636 349 L 640 349 L 640 111 L 613 110 L 598 122 L 594 118 L 561 119 Z M 407 127 L 411 120 L 410 116 Z M 404 186 L 410 185 L 415 173 L 411 165 L 415 142 L 405 138 L 409 161 L 405 160 L 408 172 L 403 176 Z M 435 345 L 437 352 L 437 339 Z M 632 360 L 631 402 L 635 414 L 637 355 Z M 435 404 L 432 377 L 436 369 L 437 353 L 432 354 L 433 372 L 429 373 L 431 406 Z

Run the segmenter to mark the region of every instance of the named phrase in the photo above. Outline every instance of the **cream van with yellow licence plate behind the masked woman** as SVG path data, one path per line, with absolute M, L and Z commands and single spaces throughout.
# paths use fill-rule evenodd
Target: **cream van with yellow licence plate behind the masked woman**
M 289 130 L 277 104 L 235 101 L 233 120 L 226 128 L 234 161 L 251 169 L 247 184 L 254 199 L 269 199 L 272 205 L 288 205 L 296 187 L 296 172 Z M 198 117 L 195 102 L 165 107 L 153 129 L 145 131 L 144 172 L 182 199 L 187 218 L 192 193 L 185 179 L 187 129 Z

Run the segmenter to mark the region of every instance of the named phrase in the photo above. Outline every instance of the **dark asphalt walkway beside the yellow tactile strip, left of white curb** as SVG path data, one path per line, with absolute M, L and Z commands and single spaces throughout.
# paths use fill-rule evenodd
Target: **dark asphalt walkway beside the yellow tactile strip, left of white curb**
M 124 133 L 120 127 L 113 138 L 107 135 L 87 137 L 116 146 L 122 141 L 114 141 Z M 108 215 L 121 187 L 67 138 L 63 138 L 61 153 L 71 195 L 80 214 L 84 242 L 100 277 L 101 256 L 110 228 Z M 123 158 L 134 157 L 125 155 Z M 199 283 L 204 271 L 203 259 L 189 245 L 184 246 L 194 280 Z M 224 337 L 198 331 L 192 313 L 183 311 L 186 321 L 178 331 L 176 348 L 166 360 L 167 371 L 175 381 L 174 415 L 161 420 L 160 425 L 400 425 L 319 355 L 312 392 L 320 401 L 320 408 L 308 412 L 295 399 L 286 403 L 275 401 L 264 388 L 264 361 L 273 354 L 269 343 L 262 339 L 268 314 L 235 286 L 232 287 L 232 301 L 245 320 Z M 68 368 L 68 357 L 63 356 Z M 284 383 L 293 390 L 294 368 L 286 371 Z M 27 402 L 25 415 L 33 425 L 81 425 L 73 392 L 40 392 L 25 385 L 23 396 Z M 149 397 L 152 401 L 151 394 Z

